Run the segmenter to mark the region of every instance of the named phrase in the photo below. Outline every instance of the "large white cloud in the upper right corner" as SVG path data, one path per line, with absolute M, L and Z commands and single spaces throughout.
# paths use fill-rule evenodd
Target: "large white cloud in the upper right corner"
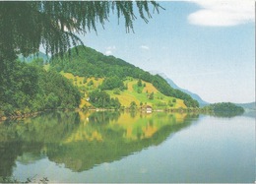
M 255 22 L 254 0 L 190 0 L 202 10 L 188 16 L 192 25 L 230 27 Z

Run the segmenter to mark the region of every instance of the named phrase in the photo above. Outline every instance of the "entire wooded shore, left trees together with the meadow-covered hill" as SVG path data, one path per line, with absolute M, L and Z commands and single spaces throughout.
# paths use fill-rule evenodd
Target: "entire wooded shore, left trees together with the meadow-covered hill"
M 45 55 L 34 56 L 32 61 L 9 63 L 2 73 L 0 118 L 79 106 L 198 107 L 196 100 L 172 89 L 160 75 L 89 47 L 79 46 L 70 51 L 71 56 L 66 53 L 64 58 L 55 55 L 47 67 Z

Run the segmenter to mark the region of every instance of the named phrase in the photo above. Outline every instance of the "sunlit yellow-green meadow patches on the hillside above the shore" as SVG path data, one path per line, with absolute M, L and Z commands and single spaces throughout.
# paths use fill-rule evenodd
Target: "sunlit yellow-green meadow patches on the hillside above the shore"
M 89 107 L 92 104 L 89 102 L 89 93 L 96 90 L 103 82 L 103 78 L 86 78 L 74 76 L 71 73 L 60 72 L 65 78 L 69 79 L 73 85 L 77 86 L 82 92 L 82 100 L 80 107 Z M 85 80 L 86 79 L 86 80 Z M 137 86 L 138 80 L 133 78 L 127 78 L 124 81 L 125 86 L 127 86 L 127 90 L 124 91 L 106 91 L 110 94 L 111 97 L 117 97 L 121 103 L 121 106 L 129 107 L 131 102 L 134 101 L 138 107 L 140 105 L 151 105 L 154 108 L 163 109 L 163 108 L 186 108 L 183 100 L 166 96 L 159 92 L 151 83 L 142 81 L 145 84 L 142 92 L 138 92 Z M 154 98 L 150 99 L 149 95 L 154 92 Z

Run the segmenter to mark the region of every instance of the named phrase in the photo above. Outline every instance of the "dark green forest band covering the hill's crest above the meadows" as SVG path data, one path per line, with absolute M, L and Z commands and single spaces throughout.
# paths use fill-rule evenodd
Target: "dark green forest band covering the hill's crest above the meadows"
M 76 53 L 77 51 L 79 55 Z M 118 78 L 125 81 L 128 77 L 131 77 L 143 80 L 146 83 L 153 84 L 158 91 L 166 96 L 183 99 L 188 107 L 199 106 L 198 102 L 189 94 L 171 88 L 160 75 L 152 75 L 122 59 L 105 56 L 90 47 L 74 47 L 63 58 L 54 55 L 50 60 L 50 66 L 51 69 L 57 72 L 64 71 L 64 73 L 85 78 Z

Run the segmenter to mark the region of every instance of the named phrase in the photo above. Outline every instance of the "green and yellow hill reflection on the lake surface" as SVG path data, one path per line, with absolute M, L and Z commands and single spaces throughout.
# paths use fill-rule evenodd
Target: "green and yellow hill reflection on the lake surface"
M 0 176 L 48 157 L 79 172 L 160 145 L 198 115 L 52 112 L 0 124 Z

